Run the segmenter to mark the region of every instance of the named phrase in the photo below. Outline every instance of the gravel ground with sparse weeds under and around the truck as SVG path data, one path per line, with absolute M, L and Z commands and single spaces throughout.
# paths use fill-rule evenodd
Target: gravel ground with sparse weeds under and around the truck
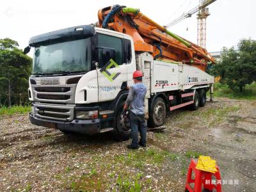
M 1 116 L 0 190 L 184 191 L 190 159 L 203 154 L 220 166 L 223 191 L 255 191 L 255 100 L 218 98 L 175 111 L 165 126 L 134 151 L 109 132 L 65 135 L 28 115 Z

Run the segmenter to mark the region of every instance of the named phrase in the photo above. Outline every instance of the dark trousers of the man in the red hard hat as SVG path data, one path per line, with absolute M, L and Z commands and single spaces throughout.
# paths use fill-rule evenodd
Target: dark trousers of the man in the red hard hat
M 138 132 L 140 132 L 140 143 L 146 144 L 147 141 L 147 130 L 145 125 L 145 116 L 136 115 L 129 111 L 129 120 L 131 125 L 131 137 L 132 137 L 132 147 L 138 146 Z

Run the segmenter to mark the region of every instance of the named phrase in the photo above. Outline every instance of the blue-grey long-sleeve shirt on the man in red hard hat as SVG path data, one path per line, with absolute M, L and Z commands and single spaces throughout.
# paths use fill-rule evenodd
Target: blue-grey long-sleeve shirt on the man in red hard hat
M 144 98 L 147 87 L 143 83 L 136 83 L 130 87 L 126 104 L 130 106 L 132 113 L 136 115 L 144 114 Z

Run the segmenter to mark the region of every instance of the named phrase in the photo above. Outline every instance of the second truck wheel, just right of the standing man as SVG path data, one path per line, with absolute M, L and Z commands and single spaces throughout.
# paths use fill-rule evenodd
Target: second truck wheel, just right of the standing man
M 164 124 L 166 118 L 166 104 L 161 97 L 157 97 L 150 106 L 150 127 L 159 127 Z

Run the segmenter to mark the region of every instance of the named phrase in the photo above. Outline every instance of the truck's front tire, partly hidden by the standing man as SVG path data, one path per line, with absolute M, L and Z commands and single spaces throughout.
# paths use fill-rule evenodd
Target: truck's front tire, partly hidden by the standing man
M 124 103 L 125 103 L 125 100 L 120 101 L 117 104 L 115 109 L 115 120 L 114 120 L 115 125 L 114 125 L 113 134 L 116 140 L 119 140 L 119 141 L 129 140 L 130 134 L 131 134 L 131 127 L 129 126 L 129 123 L 126 124 L 127 126 L 125 126 L 124 124 L 124 118 L 122 115 Z

